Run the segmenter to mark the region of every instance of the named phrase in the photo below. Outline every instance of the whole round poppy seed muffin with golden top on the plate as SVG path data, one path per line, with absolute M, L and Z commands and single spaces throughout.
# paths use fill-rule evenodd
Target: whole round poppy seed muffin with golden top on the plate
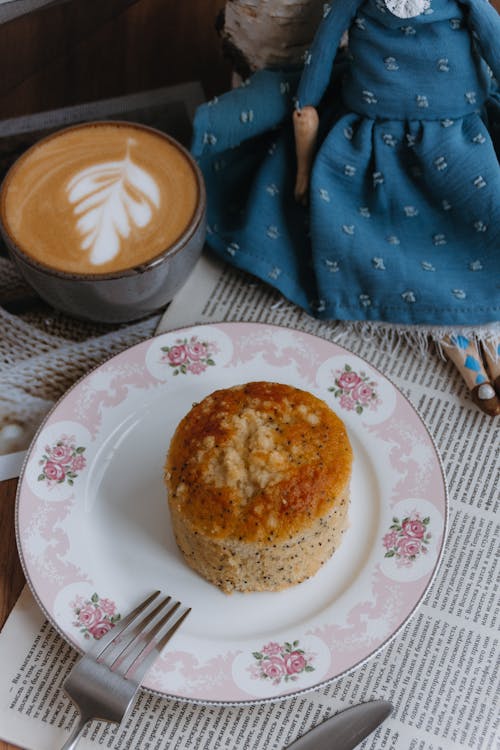
M 316 396 L 270 382 L 215 391 L 167 455 L 177 544 L 226 593 L 298 584 L 341 541 L 351 470 L 345 426 Z

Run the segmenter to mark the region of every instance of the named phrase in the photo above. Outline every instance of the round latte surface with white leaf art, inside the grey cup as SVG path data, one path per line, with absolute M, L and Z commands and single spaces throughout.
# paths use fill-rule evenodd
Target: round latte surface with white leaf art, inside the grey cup
M 133 124 L 92 123 L 49 136 L 18 159 L 1 219 L 43 266 L 109 274 L 171 247 L 199 199 L 193 165 L 174 141 Z

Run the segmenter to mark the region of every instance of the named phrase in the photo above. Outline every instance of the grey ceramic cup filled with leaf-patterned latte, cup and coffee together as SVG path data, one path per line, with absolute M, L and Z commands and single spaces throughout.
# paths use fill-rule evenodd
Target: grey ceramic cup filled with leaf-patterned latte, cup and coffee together
M 189 152 L 158 130 L 76 125 L 11 167 L 0 230 L 49 304 L 93 321 L 135 320 L 172 300 L 201 253 L 203 177 Z

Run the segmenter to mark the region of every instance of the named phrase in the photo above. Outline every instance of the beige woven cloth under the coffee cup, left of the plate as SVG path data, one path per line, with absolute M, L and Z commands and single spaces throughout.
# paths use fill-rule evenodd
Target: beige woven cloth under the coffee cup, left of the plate
M 151 336 L 158 320 L 110 326 L 70 318 L 42 302 L 0 255 L 0 454 L 24 450 L 73 383 Z

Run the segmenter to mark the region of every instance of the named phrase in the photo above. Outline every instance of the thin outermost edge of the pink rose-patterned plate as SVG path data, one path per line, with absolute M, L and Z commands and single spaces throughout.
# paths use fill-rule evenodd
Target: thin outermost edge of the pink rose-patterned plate
M 52 614 L 48 611 L 45 604 L 42 602 L 42 599 L 40 598 L 36 586 L 33 584 L 29 570 L 28 565 L 25 561 L 24 553 L 23 553 L 23 547 L 21 542 L 21 528 L 19 523 L 19 513 L 20 513 L 20 504 L 21 504 L 21 490 L 23 488 L 23 484 L 25 481 L 25 474 L 26 474 L 26 468 L 27 465 L 32 457 L 32 454 L 34 452 L 34 448 L 36 445 L 36 442 L 38 440 L 39 435 L 41 432 L 45 429 L 47 423 L 50 421 L 52 415 L 54 412 L 59 408 L 59 406 L 63 403 L 63 401 L 75 390 L 77 389 L 84 381 L 87 380 L 90 376 L 92 376 L 95 372 L 100 370 L 102 367 L 106 366 L 109 362 L 112 362 L 114 359 L 117 359 L 118 357 L 123 356 L 127 352 L 130 352 L 131 350 L 134 350 L 138 347 L 145 346 L 146 344 L 151 344 L 156 339 L 162 338 L 165 335 L 175 335 L 176 333 L 182 332 L 182 331 L 192 331 L 196 328 L 209 328 L 211 326 L 217 327 L 217 326 L 224 326 L 224 327 L 230 327 L 230 328 L 237 328 L 239 326 L 257 326 L 260 328 L 270 328 L 275 329 L 278 331 L 290 331 L 295 334 L 300 334 L 306 337 L 311 337 L 313 339 L 320 339 L 321 341 L 325 342 L 326 344 L 333 345 L 337 347 L 338 349 L 343 350 L 346 352 L 346 354 L 356 357 L 360 359 L 362 362 L 366 362 L 373 370 L 376 372 L 382 379 L 386 380 L 392 388 L 403 398 L 404 401 L 406 401 L 407 405 L 410 407 L 410 409 L 414 412 L 416 417 L 419 420 L 420 426 L 423 429 L 424 433 L 428 437 L 430 444 L 432 445 L 433 451 L 434 451 L 434 457 L 437 459 L 437 465 L 439 467 L 441 481 L 442 481 L 442 488 L 443 488 L 443 500 L 444 500 L 444 507 L 443 507 L 443 527 L 442 527 L 442 539 L 440 543 L 439 550 L 436 554 L 436 559 L 433 565 L 432 570 L 428 574 L 427 582 L 424 586 L 424 589 L 422 590 L 422 593 L 418 597 L 418 599 L 415 601 L 412 609 L 407 613 L 406 617 L 398 624 L 396 629 L 384 640 L 382 641 L 376 648 L 374 648 L 372 651 L 370 651 L 369 654 L 367 654 L 365 657 L 360 659 L 359 661 L 355 662 L 351 666 L 343 669 L 341 672 L 339 672 L 336 675 L 333 675 L 331 677 L 327 677 L 326 679 L 320 680 L 318 683 L 315 683 L 314 685 L 305 686 L 298 690 L 294 690 L 292 692 L 285 692 L 280 695 L 273 695 L 268 697 L 254 697 L 249 699 L 241 699 L 241 700 L 210 700 L 208 698 L 190 698 L 188 696 L 181 696 L 177 695 L 175 693 L 166 693 L 161 692 L 160 690 L 143 686 L 141 685 L 141 690 L 150 693 L 151 695 L 155 695 L 162 699 L 167 700 L 174 700 L 179 703 L 191 703 L 193 705 L 207 705 L 207 706 L 219 706 L 219 707 L 231 707 L 231 706 L 254 706 L 259 704 L 267 704 L 267 703 L 277 703 L 284 700 L 289 700 L 292 698 L 296 698 L 300 695 L 305 695 L 307 693 L 313 692 L 315 690 L 321 690 L 329 685 L 332 685 L 333 683 L 337 682 L 338 680 L 342 679 L 343 677 L 348 676 L 356 669 L 359 669 L 367 662 L 371 661 L 375 656 L 377 656 L 381 651 L 385 650 L 389 644 L 396 638 L 397 635 L 399 635 L 402 630 L 404 630 L 409 622 L 413 619 L 416 612 L 421 607 L 425 597 L 428 595 L 429 591 L 431 590 L 432 586 L 434 585 L 435 579 L 437 577 L 437 574 L 439 572 L 439 569 L 441 567 L 441 563 L 444 556 L 444 551 L 446 548 L 446 542 L 448 538 L 448 531 L 449 531 L 449 515 L 450 515 L 450 499 L 449 499 L 449 488 L 448 488 L 448 482 L 446 478 L 446 473 L 444 471 L 443 466 L 443 459 L 441 457 L 441 454 L 438 450 L 438 447 L 436 445 L 436 440 L 434 439 L 434 436 L 428 429 L 427 425 L 425 424 L 425 421 L 420 414 L 419 409 L 416 407 L 416 405 L 413 403 L 411 398 L 404 393 L 392 380 L 392 378 L 385 373 L 383 373 L 378 367 L 373 365 L 371 362 L 369 362 L 366 357 L 357 354 L 356 352 L 353 352 L 351 349 L 346 347 L 344 344 L 339 344 L 336 341 L 330 341 L 326 336 L 320 335 L 317 333 L 311 333 L 309 331 L 303 331 L 298 328 L 294 328 L 291 326 L 286 325 L 280 325 L 276 323 L 262 323 L 260 321 L 210 321 L 210 322 L 204 322 L 204 323 L 192 323 L 182 326 L 175 326 L 174 328 L 169 328 L 168 330 L 161 331 L 161 332 L 155 332 L 151 336 L 147 336 L 145 339 L 136 342 L 135 344 L 131 344 L 130 346 L 124 347 L 120 352 L 117 352 L 115 354 L 111 354 L 109 357 L 106 357 L 102 362 L 97 364 L 95 367 L 92 367 L 88 372 L 84 373 L 81 377 L 79 377 L 64 393 L 56 400 L 56 402 L 53 404 L 53 406 L 50 408 L 50 410 L 47 412 L 47 414 L 44 416 L 42 422 L 38 426 L 36 432 L 34 433 L 30 444 L 26 450 L 23 463 L 21 466 L 21 470 L 19 473 L 19 479 L 18 479 L 18 485 L 16 489 L 16 497 L 15 497 L 15 517 L 14 517 L 14 523 L 15 523 L 15 535 L 16 535 L 16 545 L 17 545 L 17 551 L 19 560 L 21 563 L 22 571 L 26 579 L 26 584 L 28 585 L 38 607 L 40 608 L 42 614 L 44 617 L 48 620 L 51 627 L 54 628 L 54 630 L 59 634 L 59 636 L 64 640 L 64 642 L 72 647 L 75 651 L 77 651 L 79 656 L 83 656 L 85 652 L 84 649 L 82 649 L 78 644 L 73 642 L 70 637 L 64 632 L 62 627 L 55 621 L 55 619 L 52 617 Z

